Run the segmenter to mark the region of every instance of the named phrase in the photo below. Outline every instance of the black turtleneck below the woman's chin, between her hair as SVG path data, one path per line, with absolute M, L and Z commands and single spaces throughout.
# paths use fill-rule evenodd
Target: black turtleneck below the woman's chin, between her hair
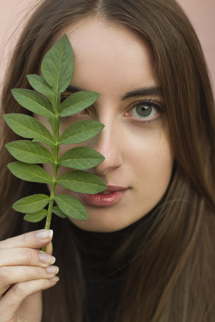
M 145 221 L 150 214 L 144 216 Z M 126 266 L 112 261 L 113 253 L 138 225 L 139 221 L 116 232 L 89 232 L 73 223 L 73 231 L 80 246 L 86 285 L 86 312 L 84 322 L 113 321 L 124 285 Z

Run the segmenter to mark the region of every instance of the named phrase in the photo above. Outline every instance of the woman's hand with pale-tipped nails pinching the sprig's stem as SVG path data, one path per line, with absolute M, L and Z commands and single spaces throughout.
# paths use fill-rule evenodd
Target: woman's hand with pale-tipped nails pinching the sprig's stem
M 0 242 L 1 322 L 41 322 L 42 290 L 58 280 L 58 267 L 50 266 L 51 233 L 38 230 Z M 46 253 L 39 250 L 46 245 Z

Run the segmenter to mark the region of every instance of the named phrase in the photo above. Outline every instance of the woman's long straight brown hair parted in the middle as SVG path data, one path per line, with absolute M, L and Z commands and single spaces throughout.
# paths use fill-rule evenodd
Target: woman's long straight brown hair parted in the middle
M 214 103 L 200 43 L 174 0 L 40 1 L 15 48 L 5 80 L 2 113 L 28 113 L 15 102 L 11 89 L 30 88 L 26 75 L 37 73 L 52 34 L 72 21 L 91 16 L 129 26 L 151 42 L 175 156 L 164 197 L 149 219 L 140 220 L 114 254 L 118 264 L 127 263 L 115 321 L 212 322 Z M 3 145 L 20 138 L 6 125 L 2 127 Z M 3 147 L 0 239 L 41 228 L 41 223 L 26 223 L 23 215 L 11 210 L 18 198 L 41 189 L 11 175 L 6 167 L 11 161 L 13 158 Z M 54 255 L 60 267 L 60 282 L 44 291 L 43 321 L 81 322 L 84 281 L 75 238 L 65 220 L 54 219 L 51 228 L 56 229 Z M 64 258 L 68 259 L 66 263 Z

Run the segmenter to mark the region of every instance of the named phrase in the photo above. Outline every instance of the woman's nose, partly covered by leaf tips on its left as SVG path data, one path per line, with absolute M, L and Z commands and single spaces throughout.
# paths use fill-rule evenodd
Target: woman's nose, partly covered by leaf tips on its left
M 102 163 L 93 168 L 96 174 L 107 175 L 122 166 L 122 138 L 122 130 L 114 124 L 105 125 L 94 138 L 92 148 L 105 157 Z

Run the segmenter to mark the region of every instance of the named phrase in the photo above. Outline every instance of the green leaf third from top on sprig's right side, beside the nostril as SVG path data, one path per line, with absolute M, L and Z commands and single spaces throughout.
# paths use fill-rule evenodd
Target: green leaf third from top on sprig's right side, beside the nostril
M 74 147 L 66 151 L 58 163 L 74 169 L 85 170 L 97 166 L 104 160 L 104 157 L 89 147 Z

